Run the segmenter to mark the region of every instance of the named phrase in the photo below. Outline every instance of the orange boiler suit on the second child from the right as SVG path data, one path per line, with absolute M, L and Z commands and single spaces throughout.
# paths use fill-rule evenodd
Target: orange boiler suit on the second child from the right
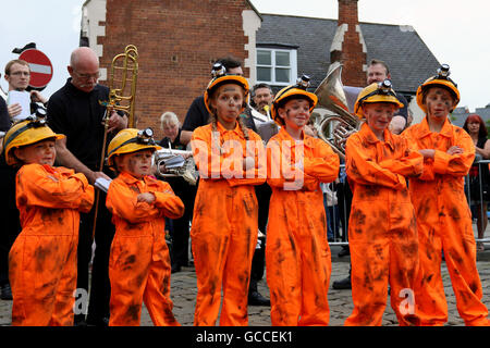
M 354 310 L 344 325 L 381 325 L 388 284 L 399 324 L 416 325 L 418 239 L 405 177 L 421 174 L 424 157 L 388 129 L 379 140 L 366 123 L 348 137 L 345 153 Z

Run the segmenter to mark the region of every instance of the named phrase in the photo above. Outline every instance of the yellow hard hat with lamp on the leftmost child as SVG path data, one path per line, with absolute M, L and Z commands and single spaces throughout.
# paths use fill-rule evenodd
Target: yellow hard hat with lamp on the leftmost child
M 21 164 L 13 149 L 47 139 L 62 139 L 64 135 L 52 132 L 45 117 L 29 116 L 15 123 L 3 137 L 3 151 L 9 165 Z

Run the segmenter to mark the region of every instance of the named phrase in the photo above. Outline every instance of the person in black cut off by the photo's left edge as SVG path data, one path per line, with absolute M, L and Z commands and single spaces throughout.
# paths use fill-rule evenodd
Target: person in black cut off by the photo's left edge
M 0 97 L 0 132 L 9 130 L 11 125 L 7 103 Z M 15 206 L 15 175 L 16 169 L 7 165 L 3 151 L 0 156 L 0 211 L 2 212 L 2 233 L 0 233 L 0 298 L 12 299 L 9 283 L 9 251 L 16 236 L 21 232 L 19 209 Z

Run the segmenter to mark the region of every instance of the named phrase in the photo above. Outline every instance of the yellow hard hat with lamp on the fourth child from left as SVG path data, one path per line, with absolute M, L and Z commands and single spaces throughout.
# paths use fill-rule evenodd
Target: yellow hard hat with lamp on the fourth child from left
M 309 112 L 311 113 L 315 109 L 318 97 L 306 90 L 309 87 L 309 76 L 303 75 L 296 82 L 296 85 L 291 85 L 284 87 L 275 95 L 274 100 L 272 101 L 272 107 L 270 108 L 270 115 L 272 120 L 275 121 L 280 126 L 284 125 L 284 121 L 279 116 L 279 108 L 285 104 L 285 102 L 290 99 L 304 98 L 309 101 Z

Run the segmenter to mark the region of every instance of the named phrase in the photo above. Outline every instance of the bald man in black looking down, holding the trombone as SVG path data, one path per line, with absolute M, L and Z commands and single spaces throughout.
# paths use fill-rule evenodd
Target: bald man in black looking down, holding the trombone
M 109 179 L 113 174 L 108 167 L 99 171 L 106 108 L 99 101 L 108 100 L 109 89 L 98 85 L 99 61 L 97 54 L 88 47 L 81 47 L 72 52 L 68 66 L 70 78 L 56 91 L 48 103 L 48 123 L 57 133 L 64 134 L 65 139 L 57 141 L 57 163 L 85 174 L 94 184 L 98 177 Z M 127 117 L 113 112 L 109 117 L 107 142 L 118 130 L 127 126 Z M 106 195 L 100 192 L 95 231 L 95 257 L 91 269 L 87 324 L 107 325 L 109 322 L 109 253 L 114 226 L 107 210 Z M 78 233 L 78 278 L 77 288 L 88 291 L 88 268 L 91 259 L 93 227 L 95 204 L 87 214 L 81 214 Z M 88 294 L 88 293 L 86 293 Z M 81 303 L 83 295 L 76 299 Z M 86 303 L 85 303 L 86 304 Z M 81 303 L 79 308 L 86 308 Z M 75 308 L 76 310 L 77 308 Z M 84 324 L 84 313 L 75 313 L 75 324 Z

